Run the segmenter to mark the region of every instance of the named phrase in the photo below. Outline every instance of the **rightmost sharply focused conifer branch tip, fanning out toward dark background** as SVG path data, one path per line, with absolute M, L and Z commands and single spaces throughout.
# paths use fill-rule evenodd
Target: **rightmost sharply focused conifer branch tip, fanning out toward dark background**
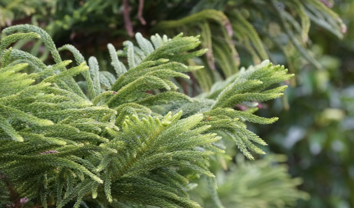
M 273 89 L 264 90 L 274 83 L 279 83 L 290 79 L 293 74 L 287 74 L 284 66 L 273 66 L 269 61 L 263 62 L 261 65 L 255 67 L 250 66 L 247 70 L 244 68 L 233 76 L 232 80 L 228 80 L 227 84 L 221 85 L 216 83 L 212 89 L 219 88 L 218 96 L 214 98 L 207 96 L 210 93 L 201 94 L 200 98 L 194 98 L 193 102 L 175 103 L 171 105 L 161 105 L 157 112 L 168 112 L 173 109 L 175 111 L 182 110 L 185 116 L 190 116 L 195 113 L 203 113 L 204 119 L 202 123 L 211 125 L 214 131 L 221 130 L 226 132 L 232 141 L 234 141 L 240 150 L 249 159 L 253 156 L 247 149 L 256 153 L 264 154 L 264 151 L 255 146 L 252 142 L 266 145 L 266 143 L 248 131 L 243 121 L 250 121 L 253 123 L 269 124 L 275 122 L 278 118 L 262 118 L 251 113 L 233 110 L 236 105 L 250 107 L 256 110 L 258 102 L 269 99 L 274 99 L 282 95 L 287 86 L 277 87 Z M 220 87 L 222 87 L 220 89 Z M 152 108 L 154 110 L 155 108 Z M 163 114 L 163 113 L 162 113 Z

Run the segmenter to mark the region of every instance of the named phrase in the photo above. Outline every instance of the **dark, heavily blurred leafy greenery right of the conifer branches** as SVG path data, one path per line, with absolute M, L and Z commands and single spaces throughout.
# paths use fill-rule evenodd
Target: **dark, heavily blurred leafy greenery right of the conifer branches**
M 260 111 L 279 116 L 272 126 L 255 126 L 270 151 L 289 156 L 290 173 L 311 200 L 298 207 L 354 207 L 354 2 L 332 8 L 347 25 L 343 40 L 312 27 L 312 53 L 323 66 L 316 70 L 297 56 L 297 86 L 288 89 L 290 110 L 282 103 Z M 296 57 L 296 56 L 295 56 Z

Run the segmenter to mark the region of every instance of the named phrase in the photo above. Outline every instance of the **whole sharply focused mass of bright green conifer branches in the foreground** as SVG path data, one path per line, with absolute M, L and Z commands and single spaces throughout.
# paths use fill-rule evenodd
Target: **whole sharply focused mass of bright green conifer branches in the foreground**
M 7 66 L 0 70 L 0 192 L 5 196 L 0 199 L 1 204 L 14 207 L 25 203 L 28 207 L 40 204 L 79 207 L 81 203 L 109 207 L 200 207 L 187 197 L 186 177 L 208 176 L 216 188 L 207 160 L 209 155 L 224 151 L 215 144 L 221 137 L 211 133 L 211 129 L 233 135 L 249 158 L 252 156 L 246 147 L 263 153 L 250 140 L 265 143 L 249 132 L 238 117 L 263 123 L 276 119 L 235 113 L 228 108 L 231 102 L 213 108 L 218 101 L 192 99 L 169 91 L 177 89 L 169 77 L 188 78 L 183 72 L 201 68 L 180 63 L 205 53 L 204 49 L 186 53 L 200 44 L 199 37 L 180 34 L 162 39 L 156 35 L 152 38 L 154 47 L 137 34 L 139 47 L 126 42 L 124 51 L 119 53 L 127 55 L 129 70 L 124 71 L 125 66 L 110 48 L 112 65 L 117 72 L 115 80 L 109 72 L 99 73 L 93 57 L 89 59 L 89 69 L 72 45 L 59 48 L 70 50 L 77 62 L 78 66 L 66 69 L 72 61 L 62 61 L 49 35 L 33 25 L 16 25 L 4 33 L 16 31 L 25 34 L 4 38 L 1 43 L 4 49 L 14 39 L 37 37 L 48 46 L 56 64 L 46 66 L 20 50 L 9 49 L 3 55 L 3 64 Z M 34 73 L 19 72 L 28 65 Z M 272 65 L 240 72 L 246 83 L 253 79 L 263 81 L 256 81 L 258 85 L 245 88 L 244 92 L 261 92 L 272 84 L 267 79 L 277 82 L 289 79 L 291 75 L 285 72 L 284 68 Z M 86 79 L 83 89 L 73 79 L 80 73 Z M 114 79 L 110 86 L 114 91 L 107 90 L 102 74 Z M 235 81 L 232 86 L 237 84 Z M 148 93 L 155 89 L 168 91 Z M 279 90 L 270 91 L 242 96 L 242 100 L 272 99 L 272 93 Z M 226 90 L 220 97 L 232 98 L 238 93 Z M 194 112 L 187 108 L 205 103 L 206 111 Z M 186 109 L 188 115 L 183 115 L 182 111 L 174 111 L 172 115 L 153 110 L 158 105 L 176 104 Z M 23 202 L 20 200 L 23 198 L 30 201 Z

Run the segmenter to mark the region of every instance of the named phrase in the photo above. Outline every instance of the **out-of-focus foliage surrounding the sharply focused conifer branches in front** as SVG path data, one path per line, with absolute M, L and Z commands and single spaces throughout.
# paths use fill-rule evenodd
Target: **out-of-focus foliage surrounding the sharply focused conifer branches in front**
M 286 96 L 260 103 L 255 113 L 280 120 L 247 123 L 267 141 L 263 149 L 269 154 L 244 161 L 237 148 L 226 145 L 227 155 L 211 159 L 220 200 L 225 207 L 354 207 L 352 0 L 0 0 L 0 12 L 2 29 L 39 25 L 57 46 L 72 44 L 85 57 L 95 55 L 108 71 L 107 43 L 122 48 L 136 32 L 146 37 L 200 34 L 200 47 L 209 53 L 189 64 L 205 68 L 189 74 L 190 81 L 174 80 L 190 96 L 205 92 L 202 96 L 213 98 L 208 94 L 213 84 L 221 86 L 242 66 L 265 59 L 285 65 L 296 74 Z M 52 61 L 40 41 L 13 47 Z M 203 207 L 222 207 L 207 181 L 195 177 L 199 186 L 191 197 Z

